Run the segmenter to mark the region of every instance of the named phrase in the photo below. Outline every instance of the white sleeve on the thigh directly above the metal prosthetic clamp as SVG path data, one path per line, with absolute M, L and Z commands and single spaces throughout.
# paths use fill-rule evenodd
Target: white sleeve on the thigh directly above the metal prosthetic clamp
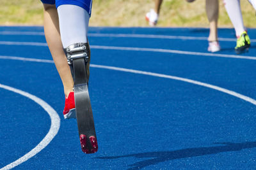
M 57 10 L 63 48 L 74 43 L 87 43 L 90 19 L 88 12 L 72 4 L 60 5 Z

